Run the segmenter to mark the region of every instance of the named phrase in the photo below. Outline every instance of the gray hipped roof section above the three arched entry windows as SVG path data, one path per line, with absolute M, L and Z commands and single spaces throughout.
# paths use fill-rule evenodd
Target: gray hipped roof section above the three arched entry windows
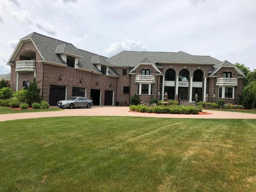
M 212 64 L 212 62 L 209 62 L 205 59 L 202 59 L 200 57 L 179 51 L 175 54 L 172 54 L 166 58 L 163 58 L 159 60 L 158 62 L 174 62 L 174 63 L 196 63 L 196 64 Z

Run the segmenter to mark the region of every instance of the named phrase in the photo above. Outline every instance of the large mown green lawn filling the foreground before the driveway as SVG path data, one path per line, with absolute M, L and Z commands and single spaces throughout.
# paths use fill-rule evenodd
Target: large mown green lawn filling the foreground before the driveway
M 254 192 L 256 120 L 0 122 L 0 191 Z

